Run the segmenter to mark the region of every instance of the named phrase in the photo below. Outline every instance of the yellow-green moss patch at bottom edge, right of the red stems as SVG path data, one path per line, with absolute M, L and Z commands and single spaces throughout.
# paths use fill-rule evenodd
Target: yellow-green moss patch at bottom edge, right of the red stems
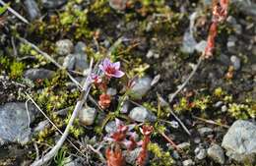
M 150 143 L 148 149 L 155 155 L 150 161 L 151 165 L 172 166 L 174 164 L 169 151 L 164 151 L 158 143 Z

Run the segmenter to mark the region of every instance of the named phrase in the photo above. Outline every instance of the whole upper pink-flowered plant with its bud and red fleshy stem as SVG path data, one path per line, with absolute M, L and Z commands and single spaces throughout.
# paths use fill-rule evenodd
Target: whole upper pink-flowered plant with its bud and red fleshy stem
M 111 78 L 122 78 L 125 74 L 120 70 L 120 62 L 112 63 L 108 58 L 105 58 L 99 65 L 99 69 L 102 72 L 101 76 L 93 74 L 91 76 L 91 82 L 102 91 L 99 95 L 98 104 L 102 109 L 109 107 L 111 103 L 111 96 L 106 93 L 107 84 Z

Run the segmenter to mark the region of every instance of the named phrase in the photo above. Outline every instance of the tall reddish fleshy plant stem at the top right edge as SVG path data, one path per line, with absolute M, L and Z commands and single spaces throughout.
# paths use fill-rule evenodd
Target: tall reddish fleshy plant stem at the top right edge
M 227 16 L 228 0 L 220 0 L 220 2 L 214 3 L 213 9 L 213 23 L 209 29 L 209 35 L 207 38 L 207 46 L 203 56 L 210 58 L 213 56 L 213 50 L 215 48 L 215 39 L 217 36 L 218 25 L 223 22 Z

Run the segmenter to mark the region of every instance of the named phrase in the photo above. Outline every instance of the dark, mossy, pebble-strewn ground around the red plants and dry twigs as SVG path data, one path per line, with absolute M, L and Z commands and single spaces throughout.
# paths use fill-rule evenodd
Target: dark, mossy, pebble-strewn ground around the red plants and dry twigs
M 68 138 L 79 150 L 66 141 L 51 165 L 105 165 L 103 138 L 116 130 L 115 118 L 154 127 L 148 165 L 256 163 L 255 0 L 230 0 L 214 56 L 174 100 L 206 47 L 211 0 L 5 2 L 18 17 L 0 17 L 0 165 L 30 165 L 54 146 L 61 134 L 48 119 L 63 132 L 81 94 L 66 71 L 84 83 L 90 60 L 106 56 L 125 78 L 109 83 L 108 109 L 92 87 Z M 123 150 L 127 165 L 140 150 Z

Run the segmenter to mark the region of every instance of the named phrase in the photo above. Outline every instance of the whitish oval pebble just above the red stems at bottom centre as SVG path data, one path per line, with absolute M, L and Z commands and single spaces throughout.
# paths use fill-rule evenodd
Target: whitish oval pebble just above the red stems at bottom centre
M 157 117 L 144 107 L 133 108 L 129 117 L 136 122 L 155 122 L 157 120 Z

